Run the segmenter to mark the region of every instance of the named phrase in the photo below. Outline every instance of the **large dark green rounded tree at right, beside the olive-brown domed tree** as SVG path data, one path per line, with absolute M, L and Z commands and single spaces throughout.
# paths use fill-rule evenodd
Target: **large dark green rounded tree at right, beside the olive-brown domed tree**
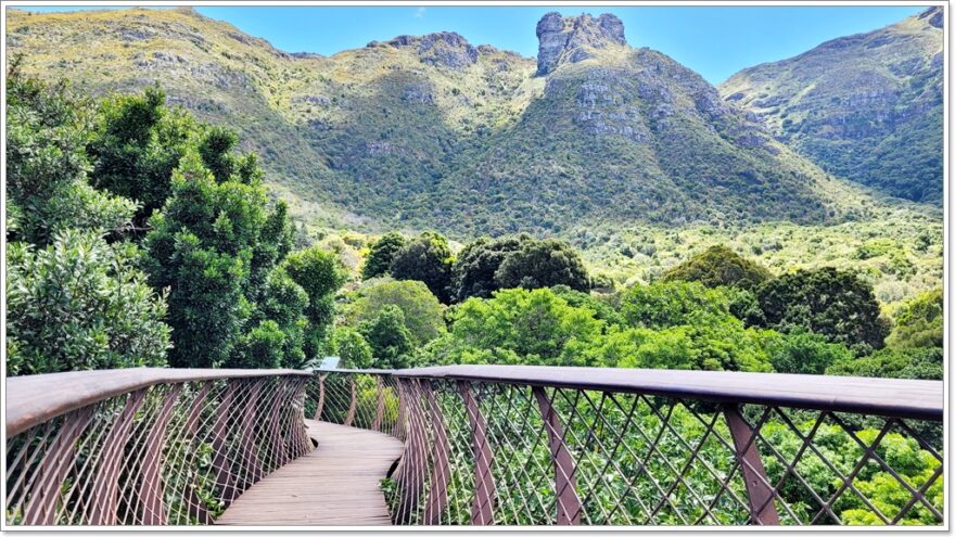
M 873 286 L 854 272 L 798 270 L 763 283 L 756 296 L 768 328 L 801 327 L 861 354 L 882 348 L 889 332 Z

